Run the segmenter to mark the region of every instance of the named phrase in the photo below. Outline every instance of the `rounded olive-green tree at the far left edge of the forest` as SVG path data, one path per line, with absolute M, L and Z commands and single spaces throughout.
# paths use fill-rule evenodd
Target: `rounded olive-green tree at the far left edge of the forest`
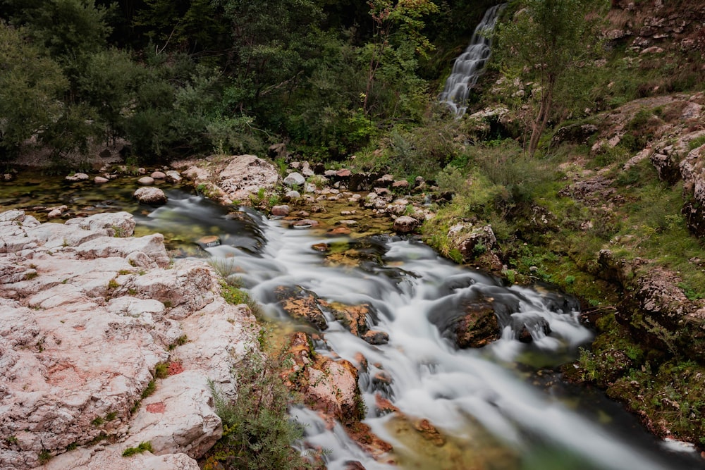
M 0 161 L 61 116 L 68 89 L 59 64 L 25 35 L 0 21 Z

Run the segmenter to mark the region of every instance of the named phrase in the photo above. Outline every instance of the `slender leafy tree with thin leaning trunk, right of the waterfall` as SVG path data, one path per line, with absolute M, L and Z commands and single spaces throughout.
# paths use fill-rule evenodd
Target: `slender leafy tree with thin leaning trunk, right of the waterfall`
M 498 26 L 498 58 L 508 75 L 535 80 L 535 115 L 529 154 L 534 155 L 551 117 L 555 93 L 568 72 L 587 66 L 598 49 L 598 12 L 607 0 L 522 0 L 514 18 Z

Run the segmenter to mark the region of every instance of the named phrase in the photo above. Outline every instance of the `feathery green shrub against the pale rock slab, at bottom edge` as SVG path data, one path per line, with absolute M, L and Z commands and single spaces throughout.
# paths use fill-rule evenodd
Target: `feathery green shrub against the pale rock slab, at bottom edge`
M 302 437 L 289 421 L 288 391 L 277 364 L 255 352 L 235 367 L 238 395 L 230 400 L 210 383 L 223 437 L 209 452 L 207 469 L 299 469 L 305 460 L 291 445 Z

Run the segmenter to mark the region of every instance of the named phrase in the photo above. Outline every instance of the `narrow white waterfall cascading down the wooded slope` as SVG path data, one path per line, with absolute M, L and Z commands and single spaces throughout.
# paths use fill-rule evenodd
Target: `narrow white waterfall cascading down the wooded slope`
M 448 80 L 446 80 L 446 87 L 443 88 L 443 92 L 439 96 L 439 101 L 448 105 L 458 118 L 465 114 L 467 94 L 484 72 L 485 64 L 490 56 L 492 40 L 487 37 L 486 32 L 494 30 L 499 13 L 505 5 L 495 5 L 485 12 L 482 21 L 475 27 L 470 45 L 455 59 L 453 72 L 450 73 Z

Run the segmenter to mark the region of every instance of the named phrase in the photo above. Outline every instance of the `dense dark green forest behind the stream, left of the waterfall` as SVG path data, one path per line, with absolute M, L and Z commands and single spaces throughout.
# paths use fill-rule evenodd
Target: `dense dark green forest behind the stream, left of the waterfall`
M 1 0 L 0 161 L 32 137 L 55 163 L 100 140 L 135 161 L 350 155 L 419 123 L 493 3 Z

